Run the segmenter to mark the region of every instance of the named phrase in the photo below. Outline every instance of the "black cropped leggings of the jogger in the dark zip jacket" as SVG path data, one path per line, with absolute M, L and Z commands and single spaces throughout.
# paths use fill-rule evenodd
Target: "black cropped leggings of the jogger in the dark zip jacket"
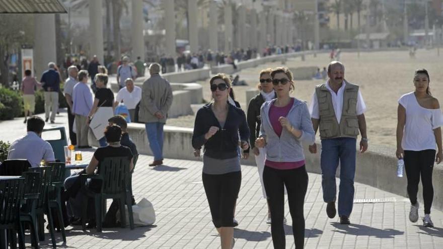
M 242 172 L 202 174 L 204 191 L 216 228 L 234 227 L 234 207 L 242 183 Z

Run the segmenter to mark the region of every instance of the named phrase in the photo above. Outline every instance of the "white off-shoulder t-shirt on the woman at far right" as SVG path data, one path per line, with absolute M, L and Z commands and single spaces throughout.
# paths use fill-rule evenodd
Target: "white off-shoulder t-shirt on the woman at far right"
M 414 151 L 435 149 L 433 129 L 443 125 L 441 110 L 420 106 L 413 92 L 403 95 L 398 103 L 406 109 L 402 148 Z

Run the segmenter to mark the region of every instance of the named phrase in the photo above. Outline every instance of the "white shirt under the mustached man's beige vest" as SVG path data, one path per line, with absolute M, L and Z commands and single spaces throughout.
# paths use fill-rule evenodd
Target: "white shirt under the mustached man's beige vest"
M 337 122 L 340 123 L 341 120 L 341 112 L 343 111 L 343 93 L 345 89 L 345 84 L 341 85 L 340 89 L 338 89 L 337 93 L 335 93 L 330 87 L 329 87 L 329 80 L 326 81 L 326 89 L 329 90 L 331 93 L 332 98 L 332 106 L 334 108 L 335 118 L 337 119 Z M 356 114 L 361 115 L 366 111 L 366 105 L 364 104 L 363 97 L 361 96 L 360 89 L 358 88 L 358 94 L 357 94 L 357 107 L 356 107 Z M 309 113 L 311 114 L 311 118 L 320 119 L 320 111 L 318 107 L 318 100 L 317 100 L 317 94 L 314 91 L 314 94 L 312 95 L 311 104 L 309 105 Z

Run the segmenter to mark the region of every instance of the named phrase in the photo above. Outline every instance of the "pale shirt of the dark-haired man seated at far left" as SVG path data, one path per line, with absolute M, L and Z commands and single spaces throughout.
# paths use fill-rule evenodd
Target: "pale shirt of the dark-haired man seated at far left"
M 26 136 L 15 140 L 11 144 L 8 159 L 27 159 L 32 167 L 39 167 L 42 159 L 55 161 L 51 145 L 33 131 L 28 131 Z

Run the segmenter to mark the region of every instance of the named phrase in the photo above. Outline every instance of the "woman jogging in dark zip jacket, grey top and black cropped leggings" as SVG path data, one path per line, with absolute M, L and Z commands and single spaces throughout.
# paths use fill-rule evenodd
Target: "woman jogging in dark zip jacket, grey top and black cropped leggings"
M 237 148 L 239 143 L 244 150 L 249 147 L 249 129 L 245 113 L 228 103 L 229 77 L 220 73 L 209 82 L 214 102 L 198 110 L 192 146 L 204 145 L 203 186 L 221 248 L 228 249 L 233 244 L 234 206 L 242 179 Z

